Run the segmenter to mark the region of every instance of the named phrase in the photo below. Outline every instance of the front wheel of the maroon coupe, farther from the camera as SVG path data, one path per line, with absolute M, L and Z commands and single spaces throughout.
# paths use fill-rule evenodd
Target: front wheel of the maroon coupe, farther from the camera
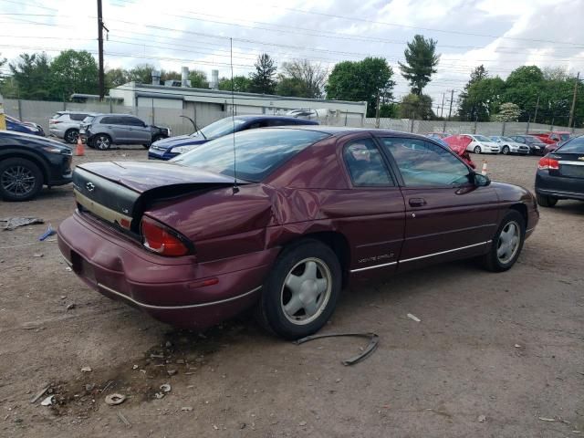
M 510 269 L 521 254 L 525 237 L 525 219 L 519 212 L 509 211 L 493 238 L 489 252 L 483 256 L 483 266 L 492 272 Z

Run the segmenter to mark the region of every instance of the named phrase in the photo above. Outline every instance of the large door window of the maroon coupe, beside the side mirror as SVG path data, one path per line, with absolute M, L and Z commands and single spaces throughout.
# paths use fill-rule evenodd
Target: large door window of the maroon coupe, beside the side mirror
M 468 183 L 468 167 L 453 153 L 438 145 L 416 139 L 384 138 L 383 148 L 391 153 L 408 187 L 460 185 Z

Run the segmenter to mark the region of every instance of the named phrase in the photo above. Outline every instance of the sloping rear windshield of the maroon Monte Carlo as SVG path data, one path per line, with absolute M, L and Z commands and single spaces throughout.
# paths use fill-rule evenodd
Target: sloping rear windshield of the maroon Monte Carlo
M 231 120 L 229 120 L 231 121 Z M 299 151 L 328 137 L 314 130 L 244 130 L 209 141 L 172 159 L 183 166 L 234 176 L 234 138 L 237 178 L 262 181 Z

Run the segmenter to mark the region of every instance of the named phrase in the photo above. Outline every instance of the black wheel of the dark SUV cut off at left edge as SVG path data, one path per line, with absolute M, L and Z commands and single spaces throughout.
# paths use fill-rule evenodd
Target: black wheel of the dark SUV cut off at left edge
M 30 201 L 43 188 L 43 173 L 24 158 L 0 162 L 0 197 L 6 201 Z

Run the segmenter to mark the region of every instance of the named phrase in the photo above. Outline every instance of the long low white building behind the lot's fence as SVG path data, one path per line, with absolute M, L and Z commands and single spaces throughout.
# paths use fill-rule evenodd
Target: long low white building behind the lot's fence
M 240 93 L 219 89 L 192 89 L 130 82 L 110 89 L 110 97 L 123 105 L 141 109 L 180 110 L 193 118 L 199 126 L 231 115 L 279 114 L 289 110 L 316 110 L 318 118 L 331 124 L 360 125 L 367 112 L 367 102 L 343 100 L 287 98 L 254 93 Z

